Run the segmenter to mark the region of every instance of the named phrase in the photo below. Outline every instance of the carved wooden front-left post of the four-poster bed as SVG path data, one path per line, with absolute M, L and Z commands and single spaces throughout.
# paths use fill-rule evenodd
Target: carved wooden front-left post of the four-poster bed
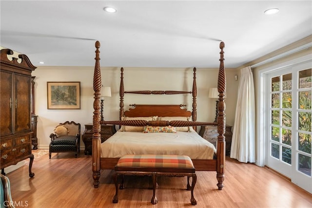
M 96 41 L 95 44 L 96 50 L 96 64 L 94 68 L 94 76 L 93 76 L 93 90 L 94 90 L 94 113 L 93 113 L 93 139 L 92 139 L 92 171 L 93 171 L 93 185 L 95 188 L 98 188 L 99 185 L 99 177 L 100 177 L 100 145 L 101 145 L 101 131 L 100 126 L 100 91 L 101 91 L 101 69 L 99 65 L 99 41 Z

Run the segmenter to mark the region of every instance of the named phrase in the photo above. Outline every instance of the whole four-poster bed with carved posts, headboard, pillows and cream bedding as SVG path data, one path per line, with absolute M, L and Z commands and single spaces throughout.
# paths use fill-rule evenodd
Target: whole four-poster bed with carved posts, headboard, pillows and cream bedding
M 216 178 L 217 178 L 217 187 L 218 189 L 223 188 L 223 181 L 224 181 L 224 170 L 225 170 L 225 102 L 224 102 L 224 93 L 226 90 L 226 78 L 225 78 L 225 70 L 224 70 L 224 64 L 223 64 L 223 48 L 224 43 L 220 43 L 220 67 L 219 67 L 219 74 L 218 74 L 218 92 L 219 92 L 219 102 L 218 102 L 218 117 L 217 117 L 217 123 L 208 123 L 208 122 L 198 122 L 196 121 L 196 96 L 197 96 L 197 89 L 196 89 L 196 69 L 194 68 L 194 77 L 193 77 L 193 89 L 192 92 L 186 92 L 186 91 L 131 91 L 127 92 L 124 90 L 124 84 L 123 84 L 123 68 L 121 68 L 121 77 L 120 77 L 120 89 L 119 89 L 119 95 L 120 95 L 120 104 L 119 104 L 119 120 L 118 121 L 101 121 L 100 117 L 100 90 L 101 90 L 101 73 L 100 73 L 100 64 L 99 64 L 99 47 L 100 43 L 99 41 L 96 42 L 96 64 L 95 64 L 95 70 L 94 70 L 94 80 L 93 80 L 93 88 L 94 88 L 94 115 L 93 115 L 93 141 L 92 141 L 92 171 L 93 171 L 93 179 L 94 179 L 94 187 L 97 188 L 99 185 L 99 177 L 100 177 L 100 170 L 114 170 L 118 159 L 120 158 L 120 155 L 126 154 L 125 151 L 123 151 L 119 146 L 108 146 L 105 148 L 105 146 L 109 145 L 110 142 L 114 142 L 115 140 L 118 140 L 119 143 L 121 140 L 121 137 L 123 138 L 122 134 L 128 135 L 128 140 L 130 140 L 131 137 L 136 139 L 135 137 L 140 137 L 140 133 L 144 134 L 146 138 L 150 138 L 152 135 L 151 133 L 142 133 L 142 130 L 146 129 L 146 127 L 149 127 L 155 131 L 155 129 L 163 129 L 162 127 L 173 127 L 174 131 L 177 130 L 174 133 L 175 138 L 184 138 L 185 135 L 189 137 L 192 134 L 198 135 L 194 130 L 192 130 L 193 127 L 195 129 L 196 126 L 202 126 L 202 125 L 217 125 L 218 128 L 218 139 L 217 139 L 217 150 L 213 150 L 213 155 L 210 155 L 210 157 L 207 158 L 200 158 L 198 156 L 190 156 L 194 166 L 195 170 L 202 170 L 202 171 L 216 171 Z M 132 93 L 132 94 L 141 94 L 141 95 L 149 95 L 149 94 L 156 94 L 156 95 L 176 95 L 176 94 L 192 94 L 193 95 L 193 110 L 192 112 L 187 111 L 186 109 L 182 109 L 184 105 L 136 105 L 134 104 L 133 109 L 129 109 L 128 111 L 124 111 L 124 94 L 126 93 Z M 190 118 L 192 120 L 190 120 Z M 121 125 L 120 130 L 115 133 L 112 137 L 110 137 L 108 140 L 103 142 L 101 144 L 101 136 L 100 136 L 100 125 L 105 124 L 116 124 Z M 185 128 L 187 128 L 187 131 L 185 131 Z M 123 130 L 122 130 L 123 129 Z M 128 129 L 128 130 L 127 130 Z M 136 129 L 136 131 L 132 131 L 132 129 Z M 138 129 L 138 130 L 137 130 Z M 122 131 L 121 131 L 122 130 Z M 129 133 L 128 133 L 129 132 Z M 195 133 L 194 133 L 195 132 Z M 129 136 L 131 134 L 131 136 Z M 154 133 L 153 133 L 154 134 Z M 157 132 L 156 134 L 161 134 L 163 137 L 167 137 L 167 134 L 163 134 L 163 132 Z M 115 136 L 116 135 L 116 136 Z M 169 133 L 168 133 L 169 135 Z M 207 146 L 207 150 L 209 148 L 209 142 L 204 140 L 203 138 L 198 138 L 195 135 L 189 137 L 189 141 L 198 141 L 203 142 L 203 145 Z M 154 135 L 153 135 L 154 136 Z M 118 137 L 118 138 L 117 138 Z M 146 139 L 147 140 L 147 139 Z M 145 141 L 146 141 L 145 140 Z M 157 138 L 151 139 L 152 145 L 156 145 L 156 143 L 159 141 Z M 168 139 L 166 141 L 174 141 L 171 145 L 171 149 L 174 149 L 172 147 L 177 146 L 177 142 L 180 141 L 179 139 Z M 145 142 L 144 140 L 140 140 L 139 142 Z M 135 141 L 137 142 L 137 141 Z M 147 141 L 146 141 L 147 142 Z M 153 143 L 154 142 L 154 143 Z M 184 141 L 181 140 L 181 143 L 184 143 Z M 209 144 L 208 144 L 209 143 Z M 166 143 L 165 143 L 166 144 Z M 145 143 L 144 143 L 145 145 Z M 188 147 L 191 147 L 186 144 Z M 196 146 L 197 145 L 197 146 Z M 199 147 L 198 145 L 202 144 L 195 144 L 194 148 Z M 128 143 L 124 146 L 129 147 L 128 149 L 131 149 Z M 138 145 L 137 145 L 138 146 Z M 141 146 L 141 145 L 139 145 Z M 115 147 L 115 148 L 114 148 Z M 117 148 L 116 148 L 117 147 Z M 163 148 L 159 147 L 160 149 Z M 210 146 L 211 147 L 211 146 Z M 214 148 L 212 146 L 212 148 Z M 105 152 L 107 150 L 117 149 L 117 153 L 114 155 L 105 155 Z M 148 151 L 148 147 L 141 148 L 143 152 Z M 176 149 L 179 149 L 180 147 L 177 147 Z M 189 148 L 192 149 L 192 148 Z M 122 151 L 121 151 L 122 150 Z M 130 150 L 132 151 L 132 150 Z M 138 150 L 133 150 L 137 152 Z M 176 150 L 174 150 L 176 151 Z M 197 151 L 197 149 L 196 149 Z M 177 151 L 178 152 L 178 151 Z M 147 152 L 150 153 L 150 152 Z M 166 154 L 167 151 L 165 151 L 164 154 Z M 114 153 L 113 153 L 114 154 Z M 178 152 L 177 154 L 180 154 Z M 188 153 L 184 153 L 188 154 Z M 191 153 L 190 153 L 191 154 Z

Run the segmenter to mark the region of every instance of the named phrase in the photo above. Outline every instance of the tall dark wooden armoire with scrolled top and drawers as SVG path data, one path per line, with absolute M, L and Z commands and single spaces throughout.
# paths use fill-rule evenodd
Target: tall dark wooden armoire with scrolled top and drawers
M 0 156 L 4 168 L 30 158 L 29 176 L 34 155 L 31 152 L 31 73 L 35 67 L 26 55 L 8 58 L 10 49 L 0 51 Z M 12 59 L 12 60 L 11 60 Z

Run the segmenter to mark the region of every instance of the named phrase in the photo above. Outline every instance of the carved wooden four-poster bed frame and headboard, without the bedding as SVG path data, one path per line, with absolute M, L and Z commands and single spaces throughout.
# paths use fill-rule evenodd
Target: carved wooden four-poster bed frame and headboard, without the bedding
M 101 158 L 100 157 L 100 145 L 101 145 L 101 135 L 100 135 L 100 125 L 101 124 L 116 124 L 116 125 L 127 125 L 127 126 L 175 126 L 175 127 L 184 127 L 184 126 L 202 126 L 202 125 L 217 125 L 218 138 L 217 138 L 217 152 L 216 159 L 203 160 L 203 159 L 194 159 L 193 164 L 195 170 L 201 171 L 216 171 L 217 178 L 217 187 L 219 190 L 223 188 L 224 181 L 224 171 L 225 171 L 225 102 L 224 94 L 226 89 L 226 77 L 223 63 L 223 48 L 224 42 L 220 42 L 220 66 L 218 74 L 218 92 L 219 92 L 219 102 L 218 102 L 218 116 L 217 123 L 208 123 L 208 122 L 197 122 L 196 121 L 196 69 L 194 68 L 194 77 L 193 77 L 193 90 L 192 92 L 185 91 L 124 91 L 123 84 L 123 68 L 121 68 L 121 77 L 120 77 L 120 110 L 119 110 L 119 121 L 101 121 L 100 117 L 100 90 L 101 90 L 101 72 L 99 64 L 99 41 L 96 41 L 96 64 L 94 70 L 93 78 L 93 89 L 94 89 L 94 115 L 93 115 L 93 140 L 92 140 L 92 171 L 94 179 L 94 187 L 98 188 L 99 186 L 99 177 L 100 170 L 114 170 L 117 161 L 119 158 Z M 135 93 L 135 94 L 192 94 L 193 95 L 193 111 L 187 111 L 186 109 L 181 109 L 184 105 L 132 105 L 135 108 L 130 109 L 129 111 L 124 111 L 123 97 L 125 93 Z M 128 117 L 146 117 L 146 116 L 192 116 L 193 121 L 144 121 L 144 120 L 126 120 L 121 121 L 122 116 Z

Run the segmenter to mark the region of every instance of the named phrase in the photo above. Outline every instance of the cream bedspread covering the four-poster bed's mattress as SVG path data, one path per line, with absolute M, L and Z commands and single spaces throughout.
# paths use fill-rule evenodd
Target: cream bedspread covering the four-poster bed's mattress
M 191 159 L 213 159 L 215 146 L 196 132 L 142 133 L 116 132 L 101 144 L 101 157 L 125 154 L 177 154 Z

